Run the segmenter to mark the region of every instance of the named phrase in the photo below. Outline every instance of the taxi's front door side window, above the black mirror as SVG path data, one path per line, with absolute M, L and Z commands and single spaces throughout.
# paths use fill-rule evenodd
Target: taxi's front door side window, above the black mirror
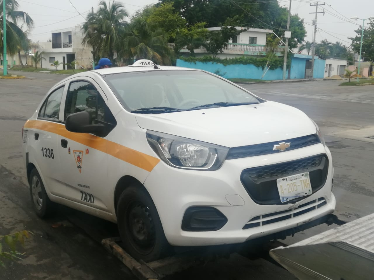
M 115 124 L 114 116 L 94 85 L 86 81 L 72 82 L 66 96 L 64 120 L 68 115 L 82 111 L 90 113 L 92 124 L 99 122 Z

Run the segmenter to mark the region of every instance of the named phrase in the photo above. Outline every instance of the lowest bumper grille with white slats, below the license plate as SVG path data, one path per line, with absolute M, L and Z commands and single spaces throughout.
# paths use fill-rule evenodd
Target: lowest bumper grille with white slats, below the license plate
M 273 224 L 280 221 L 292 219 L 300 215 L 306 214 L 310 211 L 316 210 L 326 205 L 326 199 L 320 197 L 319 199 L 312 200 L 310 202 L 301 204 L 296 209 L 288 209 L 283 211 L 277 211 L 270 214 L 260 215 L 252 218 L 243 227 L 243 230 L 247 228 L 261 227 L 263 225 Z

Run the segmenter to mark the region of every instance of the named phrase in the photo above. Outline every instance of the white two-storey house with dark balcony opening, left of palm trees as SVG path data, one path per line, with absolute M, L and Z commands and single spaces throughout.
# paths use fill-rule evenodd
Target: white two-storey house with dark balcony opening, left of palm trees
M 92 66 L 91 49 L 82 44 L 83 32 L 80 25 L 54 30 L 51 38 L 51 41 L 39 42 L 40 51 L 45 52 L 42 55 L 45 58 L 42 61 L 43 68 L 55 69 L 50 64 L 56 60 L 62 63 L 58 66 L 59 70 L 68 69 L 66 64 L 73 60 L 77 62 L 76 69 Z

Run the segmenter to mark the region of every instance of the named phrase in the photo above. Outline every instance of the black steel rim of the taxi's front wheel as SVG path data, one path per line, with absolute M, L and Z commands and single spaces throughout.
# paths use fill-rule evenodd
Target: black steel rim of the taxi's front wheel
M 150 252 L 156 241 L 156 231 L 148 208 L 141 202 L 133 202 L 128 208 L 128 228 L 138 251 Z

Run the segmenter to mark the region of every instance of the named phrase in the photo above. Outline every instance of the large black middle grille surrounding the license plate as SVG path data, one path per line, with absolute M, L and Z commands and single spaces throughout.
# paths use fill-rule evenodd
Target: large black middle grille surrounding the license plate
M 310 156 L 295 161 L 244 169 L 240 175 L 240 181 L 255 203 L 281 205 L 283 203 L 279 197 L 277 179 L 303 172 L 309 172 L 312 193 L 317 192 L 326 182 L 327 155 Z M 295 203 L 304 198 L 305 196 L 290 201 Z

